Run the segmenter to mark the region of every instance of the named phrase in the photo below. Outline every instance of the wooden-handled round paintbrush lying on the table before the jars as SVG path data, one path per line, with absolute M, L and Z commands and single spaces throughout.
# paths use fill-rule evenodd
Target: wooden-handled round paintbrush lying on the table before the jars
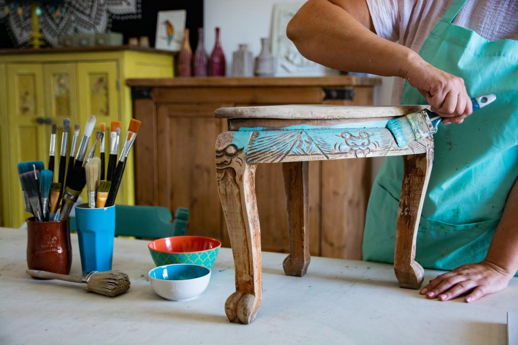
M 70 281 L 73 283 L 87 284 L 87 290 L 105 295 L 115 297 L 130 289 L 130 277 L 120 271 L 93 271 L 86 276 L 71 276 L 66 274 L 57 274 L 46 271 L 37 271 L 35 269 L 27 269 L 25 271 L 28 275 L 36 278 L 44 279 L 59 279 Z

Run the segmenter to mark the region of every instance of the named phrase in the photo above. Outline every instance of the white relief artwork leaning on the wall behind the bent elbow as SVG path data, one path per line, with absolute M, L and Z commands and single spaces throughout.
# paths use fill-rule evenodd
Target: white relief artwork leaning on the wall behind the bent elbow
M 317 64 L 302 56 L 295 44 L 286 36 L 288 22 L 304 3 L 302 1 L 274 5 L 271 26 L 271 53 L 275 57 L 275 76 L 328 76 L 339 74 L 337 70 Z

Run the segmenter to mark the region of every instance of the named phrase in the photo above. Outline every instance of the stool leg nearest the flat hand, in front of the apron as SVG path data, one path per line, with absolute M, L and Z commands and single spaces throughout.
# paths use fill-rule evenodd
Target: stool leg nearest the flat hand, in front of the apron
M 423 282 L 423 267 L 414 260 L 415 242 L 433 157 L 431 146 L 427 153 L 403 156 L 404 172 L 394 249 L 394 271 L 401 288 L 419 289 Z

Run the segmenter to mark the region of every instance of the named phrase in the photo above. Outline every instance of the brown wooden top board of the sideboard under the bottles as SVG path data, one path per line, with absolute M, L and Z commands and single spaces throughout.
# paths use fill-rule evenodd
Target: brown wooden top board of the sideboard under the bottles
M 380 78 L 333 76 L 333 77 L 210 77 L 210 78 L 148 78 L 128 79 L 128 86 L 152 87 L 243 87 L 243 86 L 374 86 Z

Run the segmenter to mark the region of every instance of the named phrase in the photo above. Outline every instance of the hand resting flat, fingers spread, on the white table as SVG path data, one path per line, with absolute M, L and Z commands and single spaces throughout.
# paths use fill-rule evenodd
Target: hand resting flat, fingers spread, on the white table
M 439 297 L 439 301 L 448 301 L 472 291 L 464 298 L 465 302 L 470 303 L 484 295 L 507 288 L 512 277 L 512 273 L 484 260 L 476 264 L 462 265 L 451 272 L 441 274 L 430 280 L 419 293 L 427 298 Z

